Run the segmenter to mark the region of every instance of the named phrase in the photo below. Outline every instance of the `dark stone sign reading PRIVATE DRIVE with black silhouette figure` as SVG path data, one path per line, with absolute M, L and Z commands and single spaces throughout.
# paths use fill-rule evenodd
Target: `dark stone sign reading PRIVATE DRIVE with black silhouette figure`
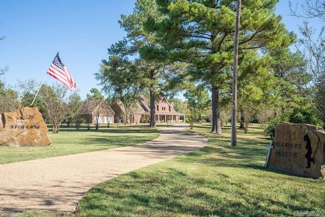
M 281 122 L 275 127 L 267 167 L 294 175 L 325 178 L 325 133 L 304 123 Z

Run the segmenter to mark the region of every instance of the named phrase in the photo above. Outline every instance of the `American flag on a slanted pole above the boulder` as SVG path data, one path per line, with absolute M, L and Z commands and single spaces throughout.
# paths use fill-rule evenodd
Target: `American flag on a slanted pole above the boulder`
M 62 63 L 59 52 L 57 52 L 53 63 L 51 64 L 49 70 L 47 71 L 48 75 L 60 81 L 62 84 L 66 85 L 70 90 L 76 90 L 77 83 L 69 73 L 68 69 Z

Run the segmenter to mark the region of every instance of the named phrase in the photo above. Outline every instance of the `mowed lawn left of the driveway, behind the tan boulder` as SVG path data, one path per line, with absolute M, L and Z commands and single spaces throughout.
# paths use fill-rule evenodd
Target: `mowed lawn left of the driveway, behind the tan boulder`
M 157 138 L 159 132 L 148 125 L 112 125 L 99 130 L 83 127 L 79 132 L 62 127 L 57 134 L 49 130 L 48 136 L 52 143 L 46 147 L 0 146 L 0 164 L 135 145 Z

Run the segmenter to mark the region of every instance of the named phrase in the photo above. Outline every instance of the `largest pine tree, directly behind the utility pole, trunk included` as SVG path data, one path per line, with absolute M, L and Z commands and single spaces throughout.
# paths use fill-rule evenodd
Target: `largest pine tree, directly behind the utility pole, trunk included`
M 233 64 L 237 1 L 157 0 L 166 18 L 149 17 L 146 26 L 156 33 L 171 59 L 190 63 L 190 74 L 210 84 L 212 93 L 212 130 L 222 133 L 219 91 L 229 88 Z M 245 1 L 242 4 L 239 32 L 239 58 L 250 49 L 287 46 L 290 34 L 276 16 L 277 0 Z M 162 48 L 163 49 L 163 48 Z M 240 63 L 239 63 L 240 64 Z M 238 71 L 241 71 L 240 66 Z

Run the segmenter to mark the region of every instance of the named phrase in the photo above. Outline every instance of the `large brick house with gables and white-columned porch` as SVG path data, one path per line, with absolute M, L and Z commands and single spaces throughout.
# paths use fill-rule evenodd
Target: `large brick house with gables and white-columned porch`
M 118 100 L 112 105 L 115 112 L 115 122 L 124 122 L 129 119 L 134 123 L 145 123 L 150 121 L 150 102 L 144 96 L 139 99 L 139 102 L 134 108 L 125 111 L 123 103 Z M 169 103 L 165 97 L 160 97 L 158 102 L 155 102 L 155 113 L 157 122 L 181 122 L 180 116 L 184 117 L 185 114 L 175 111 L 174 104 Z M 128 115 L 127 115 L 128 114 Z

